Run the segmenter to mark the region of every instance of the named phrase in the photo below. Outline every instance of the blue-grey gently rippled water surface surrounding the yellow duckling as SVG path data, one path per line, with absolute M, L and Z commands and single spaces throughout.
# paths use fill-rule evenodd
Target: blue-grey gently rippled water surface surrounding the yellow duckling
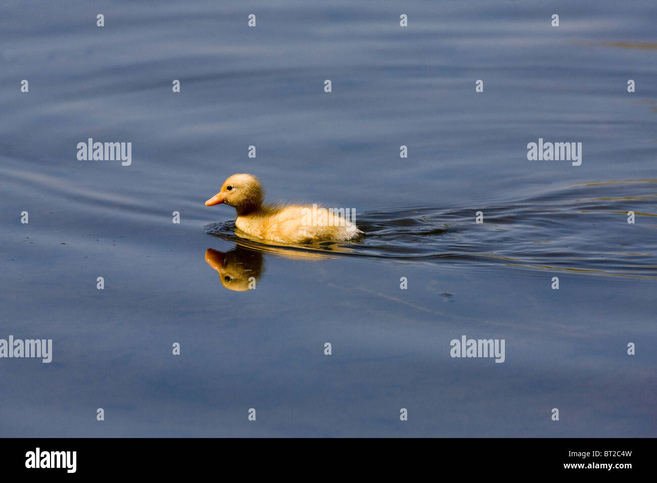
M 656 14 L 3 2 L 0 338 L 53 361 L 0 359 L 0 436 L 657 436 Z M 89 137 L 131 166 L 79 161 Z M 365 237 L 240 239 L 204 206 L 238 172 Z M 450 357 L 462 335 L 505 362 Z

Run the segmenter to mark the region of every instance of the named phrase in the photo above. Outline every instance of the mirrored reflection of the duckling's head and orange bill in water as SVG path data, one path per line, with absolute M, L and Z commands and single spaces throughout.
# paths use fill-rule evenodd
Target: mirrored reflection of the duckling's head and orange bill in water
M 237 292 L 256 288 L 260 275 L 265 271 L 262 253 L 239 245 L 227 252 L 208 248 L 206 262 L 219 272 L 221 285 Z

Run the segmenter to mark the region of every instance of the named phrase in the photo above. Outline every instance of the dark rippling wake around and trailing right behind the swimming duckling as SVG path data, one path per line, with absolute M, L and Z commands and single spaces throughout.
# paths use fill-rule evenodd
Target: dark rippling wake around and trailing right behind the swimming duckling
M 361 214 L 357 242 L 285 246 L 235 235 L 230 222 L 205 232 L 246 248 L 303 258 L 305 254 L 357 256 L 478 267 L 579 271 L 657 278 L 651 217 L 657 216 L 657 180 L 586 183 L 509 204 L 475 210 L 397 208 Z M 631 183 L 631 196 L 625 187 Z M 635 223 L 627 223 L 627 212 Z

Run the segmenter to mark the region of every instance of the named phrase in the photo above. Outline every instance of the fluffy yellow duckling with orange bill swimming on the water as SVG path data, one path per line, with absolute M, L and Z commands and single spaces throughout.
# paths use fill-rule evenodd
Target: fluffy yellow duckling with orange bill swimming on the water
M 362 235 L 355 223 L 325 208 L 262 204 L 265 191 L 254 175 L 234 174 L 206 206 L 225 203 L 237 210 L 235 226 L 246 235 L 280 243 L 348 241 Z M 319 216 L 317 216 L 319 214 Z

